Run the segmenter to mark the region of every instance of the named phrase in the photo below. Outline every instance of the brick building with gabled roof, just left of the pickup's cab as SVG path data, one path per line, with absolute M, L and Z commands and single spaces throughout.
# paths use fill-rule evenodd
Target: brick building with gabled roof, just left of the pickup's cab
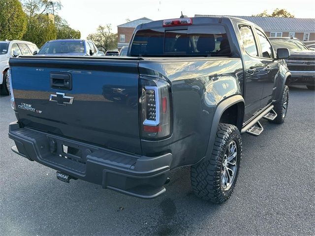
M 128 46 L 133 30 L 142 23 L 152 21 L 149 18 L 143 17 L 134 21 L 129 21 L 125 24 L 117 26 L 118 45 L 117 48 L 121 49 L 123 46 Z

